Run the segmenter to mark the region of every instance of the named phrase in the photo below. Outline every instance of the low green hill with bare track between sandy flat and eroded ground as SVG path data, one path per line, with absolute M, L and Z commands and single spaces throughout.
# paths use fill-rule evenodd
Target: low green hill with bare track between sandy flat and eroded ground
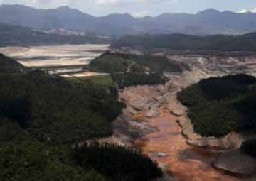
M 164 84 L 164 72 L 181 72 L 185 66 L 163 56 L 106 52 L 89 65 L 93 72 L 107 72 L 120 88 L 139 84 Z

